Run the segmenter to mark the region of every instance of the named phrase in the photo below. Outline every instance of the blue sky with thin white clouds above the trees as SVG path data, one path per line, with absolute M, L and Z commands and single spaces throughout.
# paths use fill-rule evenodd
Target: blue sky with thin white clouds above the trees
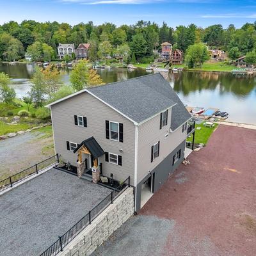
M 117 26 L 138 20 L 163 21 L 175 28 L 191 23 L 202 28 L 256 20 L 256 0 L 0 0 L 0 24 L 15 20 L 58 21 L 71 25 L 93 21 Z

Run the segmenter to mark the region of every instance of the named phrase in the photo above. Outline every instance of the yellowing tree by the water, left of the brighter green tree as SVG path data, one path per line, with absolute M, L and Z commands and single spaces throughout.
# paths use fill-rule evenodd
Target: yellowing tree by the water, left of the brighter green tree
M 61 72 L 53 65 L 42 68 L 40 71 L 44 75 L 45 93 L 51 98 L 52 93 L 57 92 L 62 85 Z

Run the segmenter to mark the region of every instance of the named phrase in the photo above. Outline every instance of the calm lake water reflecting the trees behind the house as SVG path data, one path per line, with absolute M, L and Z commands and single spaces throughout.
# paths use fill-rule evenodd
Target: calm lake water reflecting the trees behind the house
M 29 79 L 33 69 L 33 65 L 0 63 L 0 72 L 12 77 L 17 97 L 29 92 Z M 70 70 L 66 70 L 63 75 L 64 83 L 69 83 L 69 72 Z M 126 68 L 101 69 L 98 72 L 105 83 L 148 74 L 145 70 L 128 71 Z M 229 113 L 228 120 L 232 122 L 256 124 L 256 77 L 217 72 L 170 72 L 166 76 L 184 104 L 220 108 Z

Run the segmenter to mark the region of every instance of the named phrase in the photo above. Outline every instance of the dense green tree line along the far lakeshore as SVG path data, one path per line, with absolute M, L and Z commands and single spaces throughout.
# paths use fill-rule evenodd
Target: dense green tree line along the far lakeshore
M 206 43 L 212 49 L 228 52 L 231 60 L 248 54 L 252 60 L 256 45 L 256 22 L 246 23 L 241 28 L 221 24 L 200 28 L 195 24 L 171 28 L 163 22 L 138 21 L 136 24 L 117 27 L 106 22 L 95 26 L 93 22 L 70 26 L 68 23 L 15 21 L 0 26 L 1 60 L 19 60 L 24 54 L 33 55 L 35 61 L 50 61 L 57 58 L 57 46 L 61 44 L 90 44 L 90 60 L 106 60 L 107 56 L 122 56 L 125 62 L 154 60 L 162 42 L 170 42 L 174 48 L 186 53 L 194 44 Z

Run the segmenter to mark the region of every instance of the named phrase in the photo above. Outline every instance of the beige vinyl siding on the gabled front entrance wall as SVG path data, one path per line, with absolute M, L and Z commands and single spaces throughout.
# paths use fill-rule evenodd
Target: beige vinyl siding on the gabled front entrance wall
M 106 162 L 105 156 L 100 157 L 103 175 L 109 177 L 113 173 L 114 179 L 121 181 L 130 175 L 134 184 L 135 127 L 131 121 L 86 92 L 53 105 L 51 110 L 56 152 L 65 162 L 76 165 L 77 160 L 77 154 L 67 150 L 66 141 L 79 144 L 93 136 L 104 152 L 122 156 L 122 166 Z M 74 115 L 86 116 L 87 127 L 75 125 Z M 106 120 L 124 124 L 124 143 L 106 139 Z

